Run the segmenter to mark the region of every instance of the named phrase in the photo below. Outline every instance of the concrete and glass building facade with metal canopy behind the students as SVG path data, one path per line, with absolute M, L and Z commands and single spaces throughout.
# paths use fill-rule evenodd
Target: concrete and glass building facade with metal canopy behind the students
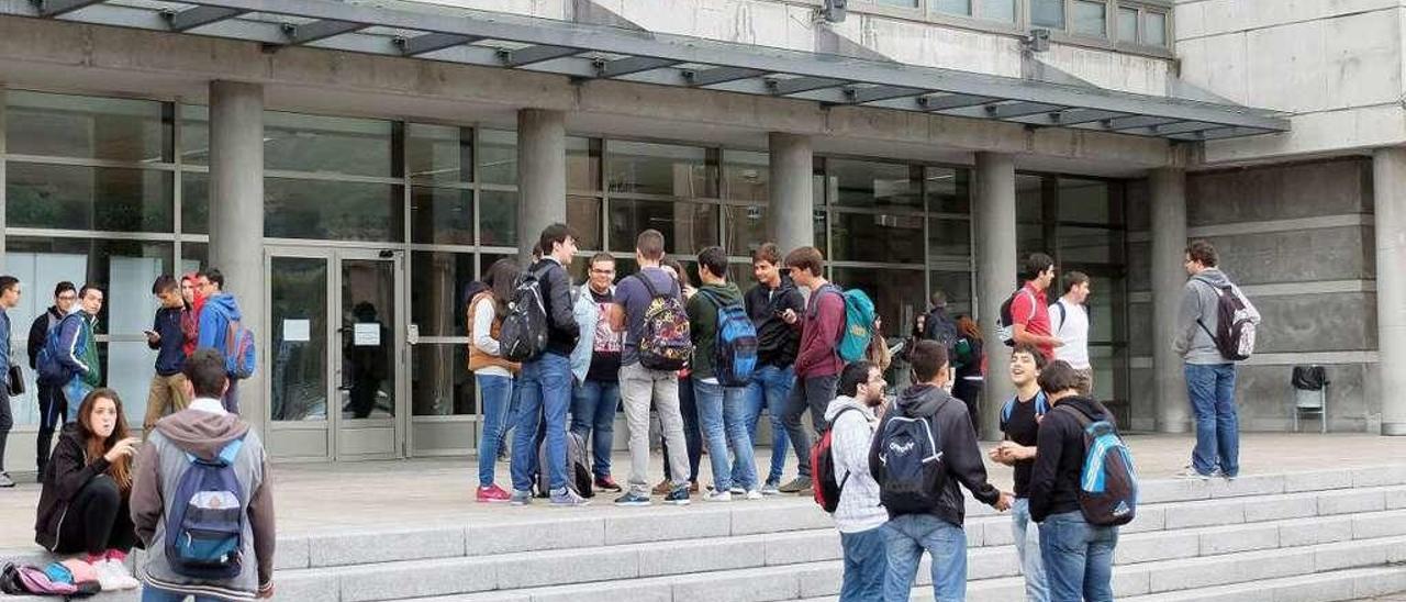
M 935 288 L 993 331 L 1043 250 L 1094 277 L 1098 397 L 1184 432 L 1166 324 L 1208 238 L 1265 315 L 1244 423 L 1288 428 L 1289 367 L 1317 363 L 1333 429 L 1402 435 L 1382 391 L 1406 383 L 1378 370 L 1406 354 L 1402 7 L 1261 4 L 0 3 L 11 318 L 104 286 L 108 384 L 139 422 L 150 283 L 215 266 L 276 457 L 467 454 L 464 287 L 553 221 L 582 235 L 578 278 L 600 250 L 633 271 L 645 228 L 686 264 L 723 245 L 744 284 L 756 245 L 815 245 L 890 336 Z M 446 14 L 496 32 L 418 28 Z M 544 31 L 561 44 L 515 42 Z

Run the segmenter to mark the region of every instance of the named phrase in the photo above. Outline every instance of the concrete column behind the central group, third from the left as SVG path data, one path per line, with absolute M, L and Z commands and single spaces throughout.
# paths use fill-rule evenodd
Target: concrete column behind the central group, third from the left
M 782 249 L 815 245 L 815 198 L 810 136 L 770 132 L 770 207 L 766 208 L 766 235 Z

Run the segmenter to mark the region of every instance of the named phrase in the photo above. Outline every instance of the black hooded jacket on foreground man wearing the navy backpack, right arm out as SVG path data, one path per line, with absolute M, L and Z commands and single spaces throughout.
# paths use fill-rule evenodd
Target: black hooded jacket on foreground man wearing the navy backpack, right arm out
M 932 384 L 918 384 L 908 387 L 898 399 L 884 412 L 883 422 L 879 423 L 879 433 L 889 426 L 894 415 L 908 418 L 927 418 L 932 425 L 932 435 L 942 447 L 942 463 L 948 470 L 943 480 L 942 497 L 936 506 L 928 512 L 952 525 L 962 526 L 966 518 L 966 499 L 957 482 L 967 488 L 981 504 L 995 505 L 1001 498 L 1001 491 L 986 482 L 986 464 L 981 461 L 981 447 L 976 443 L 976 430 L 972 430 L 972 419 L 967 418 L 966 404 Z M 883 463 L 879 461 L 879 452 L 883 437 L 875 437 L 869 447 L 869 471 L 875 474 L 877 482 L 883 482 Z M 889 518 L 897 518 L 890 512 Z

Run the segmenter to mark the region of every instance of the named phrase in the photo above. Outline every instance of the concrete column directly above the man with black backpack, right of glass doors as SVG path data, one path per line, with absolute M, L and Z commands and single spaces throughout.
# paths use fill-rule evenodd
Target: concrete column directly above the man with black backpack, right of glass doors
M 541 231 L 567 222 L 567 115 L 517 111 L 517 259 L 531 262 Z

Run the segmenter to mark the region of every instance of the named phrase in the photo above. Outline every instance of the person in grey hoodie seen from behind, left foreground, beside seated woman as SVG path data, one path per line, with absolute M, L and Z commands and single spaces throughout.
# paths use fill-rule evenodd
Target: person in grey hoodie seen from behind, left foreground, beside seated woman
M 229 387 L 224 353 L 197 349 L 186 361 L 184 374 L 190 406 L 162 418 L 136 459 L 132 522 L 146 544 L 142 602 L 180 602 L 186 596 L 195 596 L 195 601 L 271 598 L 274 504 L 269 454 L 259 433 L 226 411 L 221 401 Z M 190 457 L 215 460 L 222 453 L 232 453 L 229 466 L 239 482 L 243 563 L 239 574 L 226 579 L 194 578 L 177 571 L 166 557 L 166 533 L 173 529 L 166 519 L 177 505 L 190 504 L 190 499 L 173 498 L 191 466 Z

